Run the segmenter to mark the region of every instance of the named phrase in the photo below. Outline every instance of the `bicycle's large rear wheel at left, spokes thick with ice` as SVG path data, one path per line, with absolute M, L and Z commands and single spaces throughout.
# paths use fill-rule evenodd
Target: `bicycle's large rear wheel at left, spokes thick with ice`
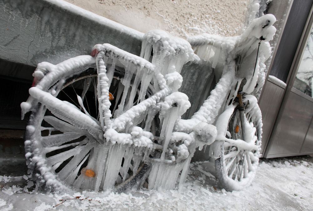
M 33 179 L 37 181 L 36 188 L 43 184 L 54 191 L 122 187 L 143 166 L 142 150 L 104 140 L 100 124 L 99 75 L 95 64 L 90 63 L 92 59 L 87 60 L 67 69 L 67 74 L 58 70 L 44 71 L 46 75 L 40 81 L 43 88 L 30 89 L 30 94 L 39 102 L 33 106 L 28 120 L 25 151 L 30 173 L 33 172 Z M 109 62 L 107 65 L 112 66 Z M 60 64 L 55 66 L 59 68 Z M 116 68 L 109 88 L 111 116 L 118 112 L 121 95 L 126 89 L 122 84 L 125 69 Z M 130 80 L 130 86 L 135 86 L 133 81 Z M 137 89 L 132 101 L 127 100 L 130 94 L 126 95 L 126 102 L 129 102 L 126 106 L 137 104 L 139 92 Z M 145 98 L 152 94 L 153 90 L 147 89 Z M 69 113 L 67 106 L 74 109 Z

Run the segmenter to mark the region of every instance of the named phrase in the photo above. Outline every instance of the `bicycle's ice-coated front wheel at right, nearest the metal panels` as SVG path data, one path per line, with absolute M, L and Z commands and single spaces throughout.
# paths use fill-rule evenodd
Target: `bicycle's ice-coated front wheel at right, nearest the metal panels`
M 252 95 L 246 96 L 244 104 L 245 124 L 240 121 L 239 106 L 234 105 L 229 106 L 217 120 L 218 129 L 224 127 L 222 130 L 225 136 L 218 143 L 218 150 L 215 152 L 218 154 L 215 171 L 219 182 L 227 191 L 239 191 L 249 187 L 259 163 L 261 111 Z

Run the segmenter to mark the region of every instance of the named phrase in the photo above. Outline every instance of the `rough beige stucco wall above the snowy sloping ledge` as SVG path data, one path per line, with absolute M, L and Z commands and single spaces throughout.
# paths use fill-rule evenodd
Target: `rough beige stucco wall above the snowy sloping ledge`
M 200 33 L 233 36 L 249 0 L 65 0 L 140 32 L 162 29 L 186 38 Z

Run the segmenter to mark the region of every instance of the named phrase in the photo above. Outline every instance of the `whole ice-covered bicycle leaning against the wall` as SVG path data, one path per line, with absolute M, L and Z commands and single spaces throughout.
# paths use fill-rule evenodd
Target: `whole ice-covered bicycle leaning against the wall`
M 53 65 L 38 64 L 22 116 L 29 173 L 55 191 L 181 185 L 197 147 L 209 145 L 227 190 L 249 186 L 259 161 L 262 118 L 253 95 L 264 84 L 273 15 L 243 34 L 188 41 L 153 30 L 136 56 L 110 44 Z M 257 60 L 255 61 L 255 59 Z M 190 119 L 178 92 L 187 62 L 212 71 L 214 89 Z

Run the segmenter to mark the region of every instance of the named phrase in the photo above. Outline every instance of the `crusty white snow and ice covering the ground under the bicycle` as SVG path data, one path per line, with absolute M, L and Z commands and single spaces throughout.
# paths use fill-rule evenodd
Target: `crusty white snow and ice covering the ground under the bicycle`
M 12 185 L 0 192 L 0 210 L 312 210 L 313 158 L 310 156 L 263 159 L 253 185 L 240 192 L 221 189 L 208 172 L 210 166 L 208 162 L 192 163 L 181 192 L 83 191 L 44 195 Z M 10 180 L 2 176 L 0 179 L 3 180 L 0 187 Z M 66 201 L 62 203 L 61 199 Z

